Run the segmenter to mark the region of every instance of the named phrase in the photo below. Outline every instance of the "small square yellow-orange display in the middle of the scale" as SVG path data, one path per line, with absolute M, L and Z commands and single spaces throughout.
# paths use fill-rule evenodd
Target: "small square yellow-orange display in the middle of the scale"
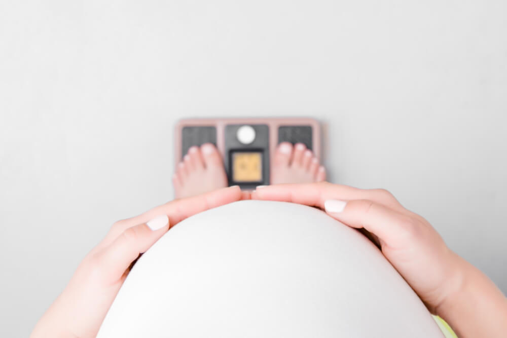
M 262 153 L 232 153 L 232 180 L 234 182 L 262 182 Z

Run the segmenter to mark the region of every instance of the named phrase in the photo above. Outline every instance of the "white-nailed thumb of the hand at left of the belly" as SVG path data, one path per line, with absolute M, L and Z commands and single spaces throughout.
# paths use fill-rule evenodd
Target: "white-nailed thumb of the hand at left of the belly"
M 169 218 L 158 216 L 147 223 L 126 229 L 98 254 L 100 271 L 108 281 L 121 278 L 130 264 L 169 230 Z

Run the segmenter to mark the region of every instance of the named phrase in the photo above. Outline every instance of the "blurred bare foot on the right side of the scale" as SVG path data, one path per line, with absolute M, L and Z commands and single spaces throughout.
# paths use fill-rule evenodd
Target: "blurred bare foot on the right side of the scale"
M 271 168 L 271 184 L 312 183 L 325 180 L 324 167 L 302 143 L 278 144 Z

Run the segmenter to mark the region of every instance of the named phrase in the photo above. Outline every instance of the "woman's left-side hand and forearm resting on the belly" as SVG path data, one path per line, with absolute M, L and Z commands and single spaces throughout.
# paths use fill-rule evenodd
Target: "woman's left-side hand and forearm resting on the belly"
M 32 337 L 94 337 L 132 262 L 170 227 L 201 211 L 247 198 L 238 186 L 171 201 L 113 224 L 79 265 Z

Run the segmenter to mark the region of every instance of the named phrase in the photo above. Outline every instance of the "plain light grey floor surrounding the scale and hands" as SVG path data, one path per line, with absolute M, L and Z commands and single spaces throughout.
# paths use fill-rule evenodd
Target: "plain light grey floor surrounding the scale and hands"
M 0 1 L 0 336 L 115 220 L 173 196 L 186 117 L 311 116 L 507 291 L 507 3 Z

